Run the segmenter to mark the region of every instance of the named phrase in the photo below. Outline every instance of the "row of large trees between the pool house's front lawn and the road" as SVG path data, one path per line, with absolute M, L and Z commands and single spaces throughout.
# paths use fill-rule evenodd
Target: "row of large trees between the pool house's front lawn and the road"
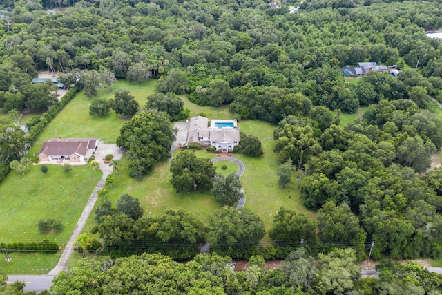
M 358 218 L 347 204 L 336 206 L 334 202 L 327 202 L 318 211 L 318 222 L 306 213 L 281 207 L 269 231 L 273 243 L 265 247 L 258 247 L 265 226 L 247 209 L 219 209 L 206 227 L 184 211 L 168 210 L 158 217 L 144 215 L 138 200 L 124 194 L 115 208 L 109 200 L 101 202 L 95 210 L 95 220 L 93 233 L 102 238 L 105 253 L 113 255 L 160 251 L 186 260 L 199 253 L 205 242 L 209 242 L 211 251 L 236 259 L 256 253 L 267 259 L 283 258 L 300 246 L 312 254 L 327 253 L 333 247 L 352 247 L 358 260 L 367 255 L 367 234 Z

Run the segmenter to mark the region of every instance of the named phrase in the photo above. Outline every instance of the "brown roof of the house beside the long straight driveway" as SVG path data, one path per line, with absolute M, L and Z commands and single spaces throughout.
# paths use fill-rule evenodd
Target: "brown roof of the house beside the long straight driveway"
M 88 149 L 95 149 L 98 138 L 57 138 L 46 140 L 41 146 L 40 153 L 45 155 L 86 155 Z

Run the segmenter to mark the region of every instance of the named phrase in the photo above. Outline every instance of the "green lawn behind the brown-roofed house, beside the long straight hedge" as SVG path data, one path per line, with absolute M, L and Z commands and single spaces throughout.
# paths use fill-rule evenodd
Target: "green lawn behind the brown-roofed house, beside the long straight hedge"
M 140 106 L 147 102 L 146 97 L 155 90 L 156 81 L 152 80 L 142 84 L 134 84 L 126 80 L 119 80 L 113 85 L 117 88 L 128 89 L 131 95 L 135 96 Z M 114 93 L 108 88 L 100 88 L 97 98 L 111 99 Z M 92 117 L 89 115 L 91 98 L 86 97 L 84 92 L 77 94 L 74 99 L 46 126 L 43 132 L 37 137 L 35 146 L 39 149 L 41 144 L 50 138 L 59 137 L 99 137 L 107 144 L 115 144 L 119 135 L 119 129 L 123 122 L 129 118 L 123 118 L 111 111 L 104 117 Z M 34 152 L 35 151 L 33 150 Z

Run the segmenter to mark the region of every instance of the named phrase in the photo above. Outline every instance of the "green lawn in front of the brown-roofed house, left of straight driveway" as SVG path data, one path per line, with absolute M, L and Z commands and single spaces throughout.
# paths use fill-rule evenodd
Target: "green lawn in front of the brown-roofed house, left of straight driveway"
M 87 166 L 73 166 L 69 174 L 64 173 L 61 166 L 48 165 L 48 168 L 48 172 L 44 174 L 41 173 L 40 166 L 30 166 L 30 171 L 24 176 L 10 171 L 0 183 L 1 242 L 48 239 L 63 248 L 66 246 L 102 173 L 93 172 Z M 46 218 L 61 220 L 63 231 L 40 234 L 38 220 Z M 57 255 L 30 256 L 12 253 L 12 263 L 0 259 L 0 269 L 9 274 L 40 274 L 42 269 L 55 266 Z

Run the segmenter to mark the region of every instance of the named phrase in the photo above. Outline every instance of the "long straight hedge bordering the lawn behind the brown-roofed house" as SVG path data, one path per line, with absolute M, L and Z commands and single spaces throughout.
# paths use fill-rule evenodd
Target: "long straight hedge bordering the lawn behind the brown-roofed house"
M 33 142 L 35 138 L 43 131 L 44 127 L 52 121 L 52 119 L 61 111 L 70 100 L 72 100 L 75 95 L 78 92 L 77 87 L 71 87 L 69 91 L 60 99 L 60 101 L 51 106 L 50 110 L 47 113 L 43 113 L 38 119 L 38 117 L 32 118 L 31 120 L 31 126 L 29 127 L 29 135 L 30 135 L 30 142 Z

